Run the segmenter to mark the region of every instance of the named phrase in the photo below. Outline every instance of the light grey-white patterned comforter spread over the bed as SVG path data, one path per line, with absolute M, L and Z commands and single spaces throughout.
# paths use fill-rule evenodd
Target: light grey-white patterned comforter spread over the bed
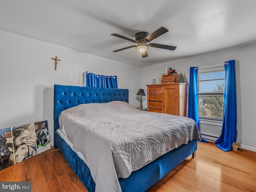
M 121 192 L 127 178 L 171 148 L 201 139 L 194 120 L 138 110 L 126 102 L 81 104 L 61 112 L 68 139 L 82 152 L 96 192 Z

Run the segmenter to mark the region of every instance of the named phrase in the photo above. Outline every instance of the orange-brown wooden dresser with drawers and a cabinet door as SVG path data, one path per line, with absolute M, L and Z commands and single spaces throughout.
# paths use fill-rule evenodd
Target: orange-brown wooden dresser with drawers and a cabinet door
M 148 111 L 188 116 L 188 84 L 153 84 L 148 87 Z

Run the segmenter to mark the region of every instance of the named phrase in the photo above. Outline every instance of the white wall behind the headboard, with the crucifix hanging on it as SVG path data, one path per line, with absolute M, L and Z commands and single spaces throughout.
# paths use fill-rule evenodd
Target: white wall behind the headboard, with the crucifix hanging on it
M 58 56 L 57 70 L 54 60 Z M 117 75 L 139 106 L 141 68 L 0 30 L 0 128 L 48 120 L 53 141 L 54 84 L 82 86 L 82 73 Z

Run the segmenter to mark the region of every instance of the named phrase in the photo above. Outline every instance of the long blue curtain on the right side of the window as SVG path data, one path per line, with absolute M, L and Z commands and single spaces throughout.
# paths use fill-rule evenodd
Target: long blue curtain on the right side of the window
M 223 96 L 223 124 L 222 132 L 215 144 L 224 151 L 232 149 L 236 142 L 236 71 L 235 60 L 225 62 L 224 65 L 224 96 Z

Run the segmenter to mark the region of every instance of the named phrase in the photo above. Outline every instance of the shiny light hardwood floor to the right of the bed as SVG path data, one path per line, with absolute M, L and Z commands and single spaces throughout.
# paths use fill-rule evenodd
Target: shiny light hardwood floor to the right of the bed
M 184 160 L 148 192 L 256 192 L 256 152 L 224 152 L 198 143 L 196 157 Z

